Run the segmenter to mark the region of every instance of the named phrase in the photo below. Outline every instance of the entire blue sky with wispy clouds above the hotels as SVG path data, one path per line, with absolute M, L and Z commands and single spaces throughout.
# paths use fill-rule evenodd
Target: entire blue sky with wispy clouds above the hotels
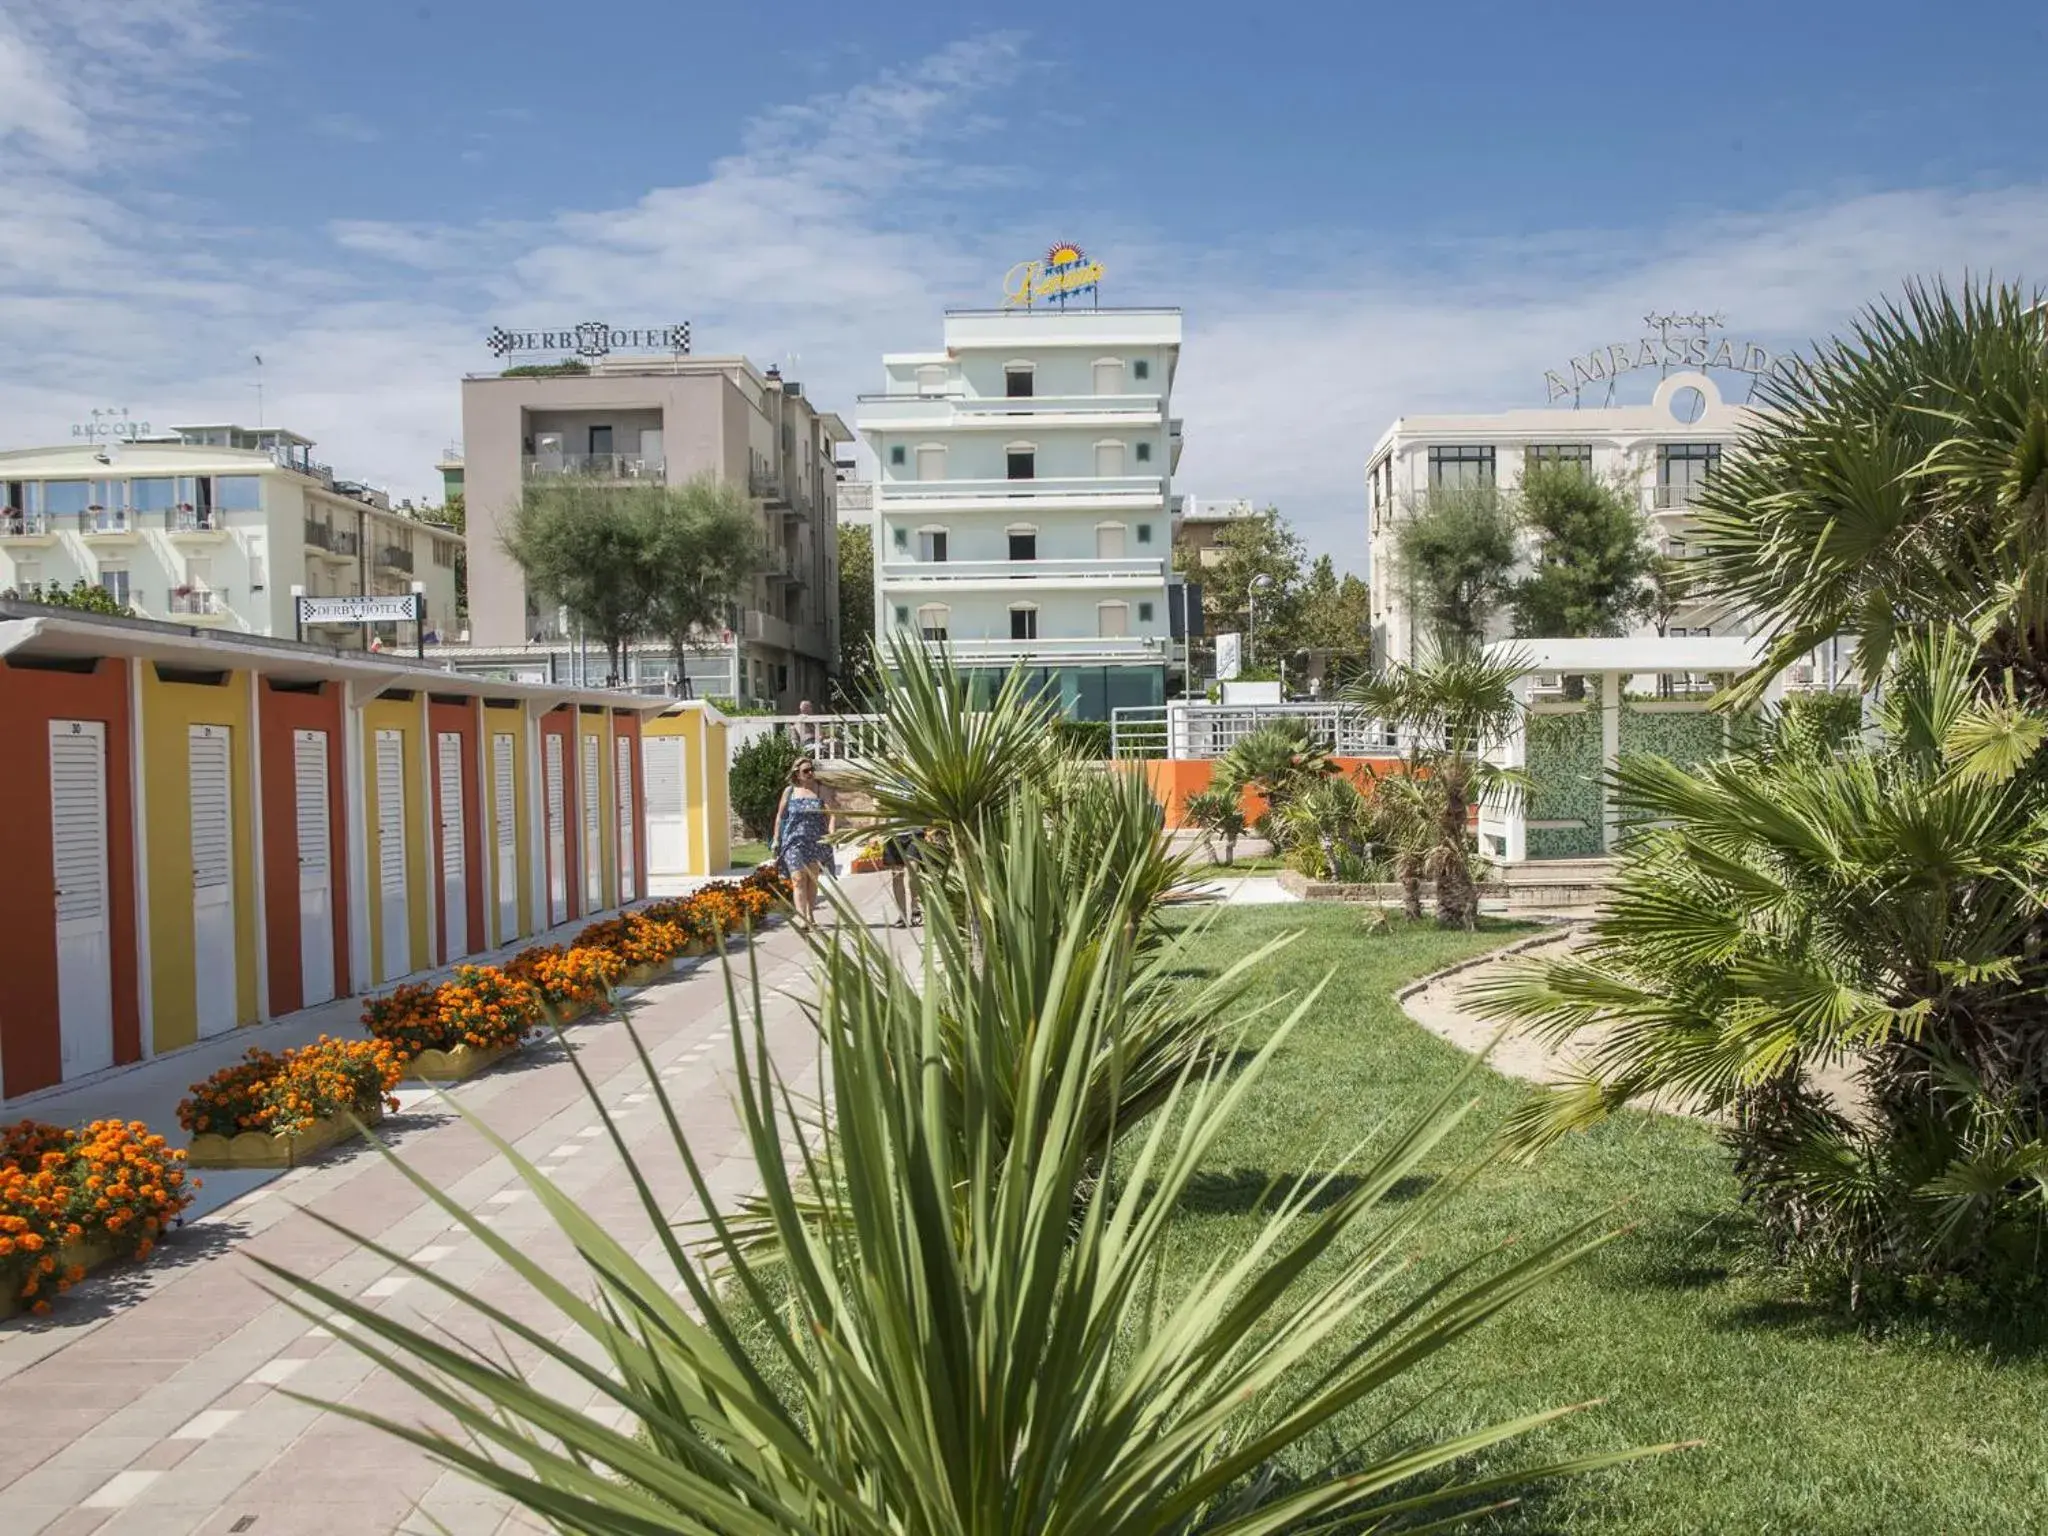
M 1004 31 L 1020 23 L 1016 31 Z M 1657 309 L 1796 344 L 2048 276 L 2040 4 L 0 0 L 0 440 L 254 414 L 434 483 L 496 322 L 688 317 L 852 408 L 1055 238 L 1180 303 L 1180 487 L 1364 561 L 1403 412 Z

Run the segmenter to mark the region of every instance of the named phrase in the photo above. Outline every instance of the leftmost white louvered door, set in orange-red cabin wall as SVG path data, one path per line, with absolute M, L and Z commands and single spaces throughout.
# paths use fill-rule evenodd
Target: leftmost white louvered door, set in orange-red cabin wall
M 49 840 L 57 877 L 61 1071 L 80 1077 L 115 1065 L 104 721 L 49 723 Z

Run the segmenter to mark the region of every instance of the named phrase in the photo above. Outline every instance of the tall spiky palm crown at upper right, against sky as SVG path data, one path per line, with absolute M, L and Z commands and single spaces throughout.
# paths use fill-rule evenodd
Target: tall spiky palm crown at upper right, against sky
M 2048 698 L 2048 311 L 2015 287 L 1909 287 L 1769 375 L 1696 508 L 1696 575 L 1772 639 L 1747 696 L 1853 633 L 1970 625 L 1993 674 Z

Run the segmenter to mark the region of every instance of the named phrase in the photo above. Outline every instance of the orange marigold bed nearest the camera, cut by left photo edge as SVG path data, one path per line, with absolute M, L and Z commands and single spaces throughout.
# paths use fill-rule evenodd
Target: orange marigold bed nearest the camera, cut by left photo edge
M 47 1313 L 98 1264 L 147 1260 L 193 1200 L 184 1161 L 141 1120 L 0 1133 L 0 1317 Z

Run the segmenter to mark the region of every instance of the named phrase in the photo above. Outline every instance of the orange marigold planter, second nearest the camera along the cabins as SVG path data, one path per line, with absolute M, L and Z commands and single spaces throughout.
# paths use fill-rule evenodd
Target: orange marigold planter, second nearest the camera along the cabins
M 252 1049 L 178 1106 L 193 1133 L 193 1161 L 213 1167 L 289 1167 L 352 1133 L 348 1120 L 397 1108 L 391 1090 L 406 1055 L 389 1040 L 322 1034 L 295 1051 Z

